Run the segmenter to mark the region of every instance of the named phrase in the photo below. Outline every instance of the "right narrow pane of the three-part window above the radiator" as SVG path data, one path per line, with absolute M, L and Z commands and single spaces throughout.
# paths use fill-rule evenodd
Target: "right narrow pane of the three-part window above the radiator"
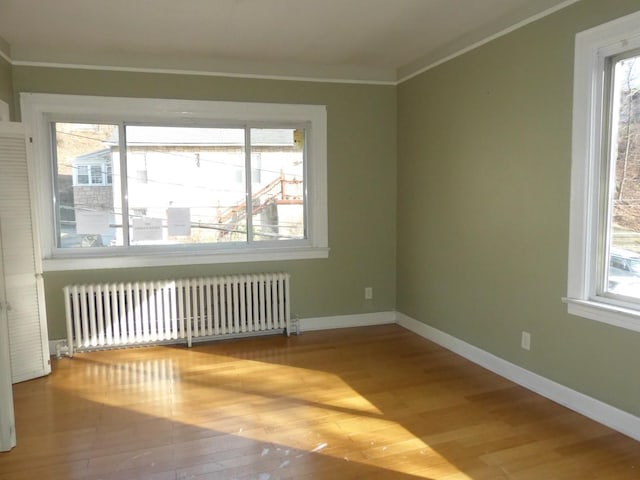
M 305 131 L 251 130 L 252 238 L 302 239 Z

